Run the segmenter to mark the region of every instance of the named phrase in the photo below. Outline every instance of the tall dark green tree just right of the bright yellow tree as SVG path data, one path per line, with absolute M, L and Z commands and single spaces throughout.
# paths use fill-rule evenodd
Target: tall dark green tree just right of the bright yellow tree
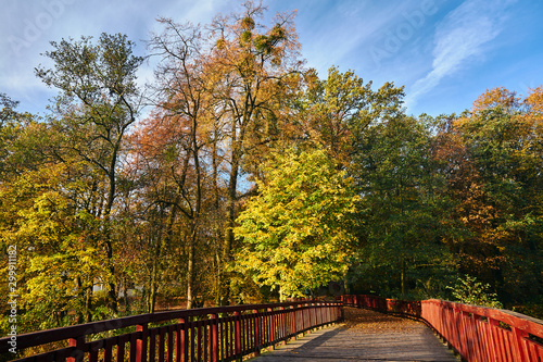
M 407 298 L 409 289 L 434 288 L 432 276 L 451 267 L 441 241 L 446 205 L 439 194 L 443 183 L 435 173 L 429 126 L 399 113 L 370 124 L 356 145 L 353 173 L 362 196 L 363 261 L 353 284 L 365 292 Z

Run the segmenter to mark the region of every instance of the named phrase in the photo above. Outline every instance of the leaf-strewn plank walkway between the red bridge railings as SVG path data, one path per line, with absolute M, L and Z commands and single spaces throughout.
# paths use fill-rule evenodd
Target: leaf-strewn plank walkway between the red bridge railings
M 343 323 L 251 361 L 459 361 L 421 322 L 363 309 L 345 308 L 344 312 Z

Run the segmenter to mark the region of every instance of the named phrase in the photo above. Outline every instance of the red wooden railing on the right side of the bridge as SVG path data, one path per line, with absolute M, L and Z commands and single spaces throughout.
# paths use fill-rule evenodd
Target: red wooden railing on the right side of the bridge
M 543 321 L 506 310 L 443 300 L 343 296 L 345 304 L 417 317 L 465 361 L 543 362 Z

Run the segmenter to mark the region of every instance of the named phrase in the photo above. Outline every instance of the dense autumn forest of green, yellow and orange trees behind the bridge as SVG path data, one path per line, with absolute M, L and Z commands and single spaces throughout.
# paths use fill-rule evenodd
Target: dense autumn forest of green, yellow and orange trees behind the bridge
M 408 115 L 265 15 L 161 18 L 149 87 L 103 34 L 51 42 L 47 115 L 0 95 L 2 334 L 14 292 L 18 333 L 333 287 L 543 314 L 543 88 Z

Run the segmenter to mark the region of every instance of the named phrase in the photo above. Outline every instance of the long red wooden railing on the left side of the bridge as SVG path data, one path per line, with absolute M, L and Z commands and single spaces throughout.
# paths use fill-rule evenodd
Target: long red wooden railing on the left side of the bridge
M 341 320 L 341 305 L 299 301 L 167 311 L 29 333 L 16 336 L 18 352 L 62 341 L 65 346 L 17 361 L 241 360 L 258 354 L 262 348 Z M 112 336 L 103 338 L 108 333 Z M 8 358 L 14 357 L 9 351 L 13 346 L 10 340 L 0 339 L 0 353 Z

